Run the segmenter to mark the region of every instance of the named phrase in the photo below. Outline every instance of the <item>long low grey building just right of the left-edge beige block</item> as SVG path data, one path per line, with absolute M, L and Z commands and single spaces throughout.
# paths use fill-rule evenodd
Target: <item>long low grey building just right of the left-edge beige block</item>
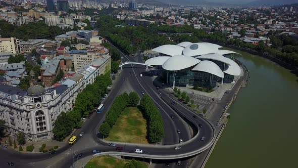
M 27 41 L 20 42 L 21 52 L 31 52 L 33 49 L 37 49 L 44 44 L 48 43 L 49 39 L 28 39 Z

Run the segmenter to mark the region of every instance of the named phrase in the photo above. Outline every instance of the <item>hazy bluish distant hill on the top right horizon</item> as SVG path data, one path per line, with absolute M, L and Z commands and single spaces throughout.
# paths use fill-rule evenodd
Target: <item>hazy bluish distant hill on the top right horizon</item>
M 259 6 L 276 6 L 297 3 L 297 0 L 258 0 L 251 3 L 247 3 L 244 6 L 259 7 Z

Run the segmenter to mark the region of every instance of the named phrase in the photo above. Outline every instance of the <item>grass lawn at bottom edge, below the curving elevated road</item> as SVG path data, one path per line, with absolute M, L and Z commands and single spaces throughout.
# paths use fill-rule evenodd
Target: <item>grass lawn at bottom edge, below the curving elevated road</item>
M 122 168 L 130 160 L 117 159 L 112 156 L 97 156 L 93 157 L 86 165 L 85 168 Z M 148 163 L 141 162 L 142 167 L 147 168 Z

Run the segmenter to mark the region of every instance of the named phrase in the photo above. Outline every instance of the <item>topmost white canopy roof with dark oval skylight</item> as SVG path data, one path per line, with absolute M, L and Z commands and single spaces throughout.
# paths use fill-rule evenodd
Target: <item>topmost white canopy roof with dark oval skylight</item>
M 221 46 L 211 43 L 193 43 L 183 49 L 183 55 L 192 57 L 209 53 L 217 53 L 218 48 L 220 47 Z

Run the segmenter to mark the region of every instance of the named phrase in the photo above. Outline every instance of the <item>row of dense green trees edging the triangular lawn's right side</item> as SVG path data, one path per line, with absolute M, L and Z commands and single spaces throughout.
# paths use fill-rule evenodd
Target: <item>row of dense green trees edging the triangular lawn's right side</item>
M 140 101 L 141 110 L 148 125 L 148 140 L 150 143 L 158 143 L 165 136 L 164 123 L 161 113 L 156 108 L 150 96 L 145 94 Z

